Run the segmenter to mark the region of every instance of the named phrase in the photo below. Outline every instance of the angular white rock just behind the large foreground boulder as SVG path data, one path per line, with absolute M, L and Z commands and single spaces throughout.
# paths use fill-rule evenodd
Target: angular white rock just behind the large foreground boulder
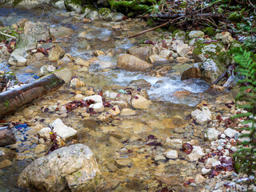
M 64 142 L 66 142 L 70 138 L 73 138 L 77 134 L 77 130 L 66 126 L 59 118 L 54 120 L 54 122 L 51 122 L 50 126 L 54 127 L 54 132 L 56 132 L 58 136 L 60 136 L 64 140 Z

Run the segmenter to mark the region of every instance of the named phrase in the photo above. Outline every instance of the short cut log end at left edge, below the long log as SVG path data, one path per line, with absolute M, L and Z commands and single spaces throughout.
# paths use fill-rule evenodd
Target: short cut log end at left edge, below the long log
M 0 127 L 0 147 L 8 146 L 15 142 L 16 138 L 11 128 L 8 126 Z

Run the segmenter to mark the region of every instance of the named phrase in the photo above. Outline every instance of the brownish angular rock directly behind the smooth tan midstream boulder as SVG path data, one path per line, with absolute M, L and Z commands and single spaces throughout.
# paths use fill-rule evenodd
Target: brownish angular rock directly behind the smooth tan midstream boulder
M 152 47 L 153 45 L 132 46 L 128 50 L 128 53 L 147 61 L 152 54 Z

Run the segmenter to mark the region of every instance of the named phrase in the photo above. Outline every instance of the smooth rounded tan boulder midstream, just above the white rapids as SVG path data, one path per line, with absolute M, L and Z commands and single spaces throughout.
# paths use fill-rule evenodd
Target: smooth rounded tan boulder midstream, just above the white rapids
M 118 57 L 117 67 L 122 70 L 145 71 L 153 67 L 152 64 L 142 61 L 142 59 L 131 54 L 122 54 Z

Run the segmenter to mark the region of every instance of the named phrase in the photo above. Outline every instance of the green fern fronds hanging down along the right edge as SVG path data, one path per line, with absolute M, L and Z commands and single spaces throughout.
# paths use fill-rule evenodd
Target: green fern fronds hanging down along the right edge
M 234 118 L 244 118 L 245 124 L 241 128 L 238 151 L 234 154 L 235 168 L 238 172 L 245 173 L 250 177 L 249 184 L 256 184 L 256 62 L 253 62 L 252 52 L 234 48 L 234 61 L 238 65 L 238 75 L 242 77 L 238 81 L 240 90 L 236 101 L 246 103 L 238 105 L 246 110 L 246 113 L 238 114 Z

